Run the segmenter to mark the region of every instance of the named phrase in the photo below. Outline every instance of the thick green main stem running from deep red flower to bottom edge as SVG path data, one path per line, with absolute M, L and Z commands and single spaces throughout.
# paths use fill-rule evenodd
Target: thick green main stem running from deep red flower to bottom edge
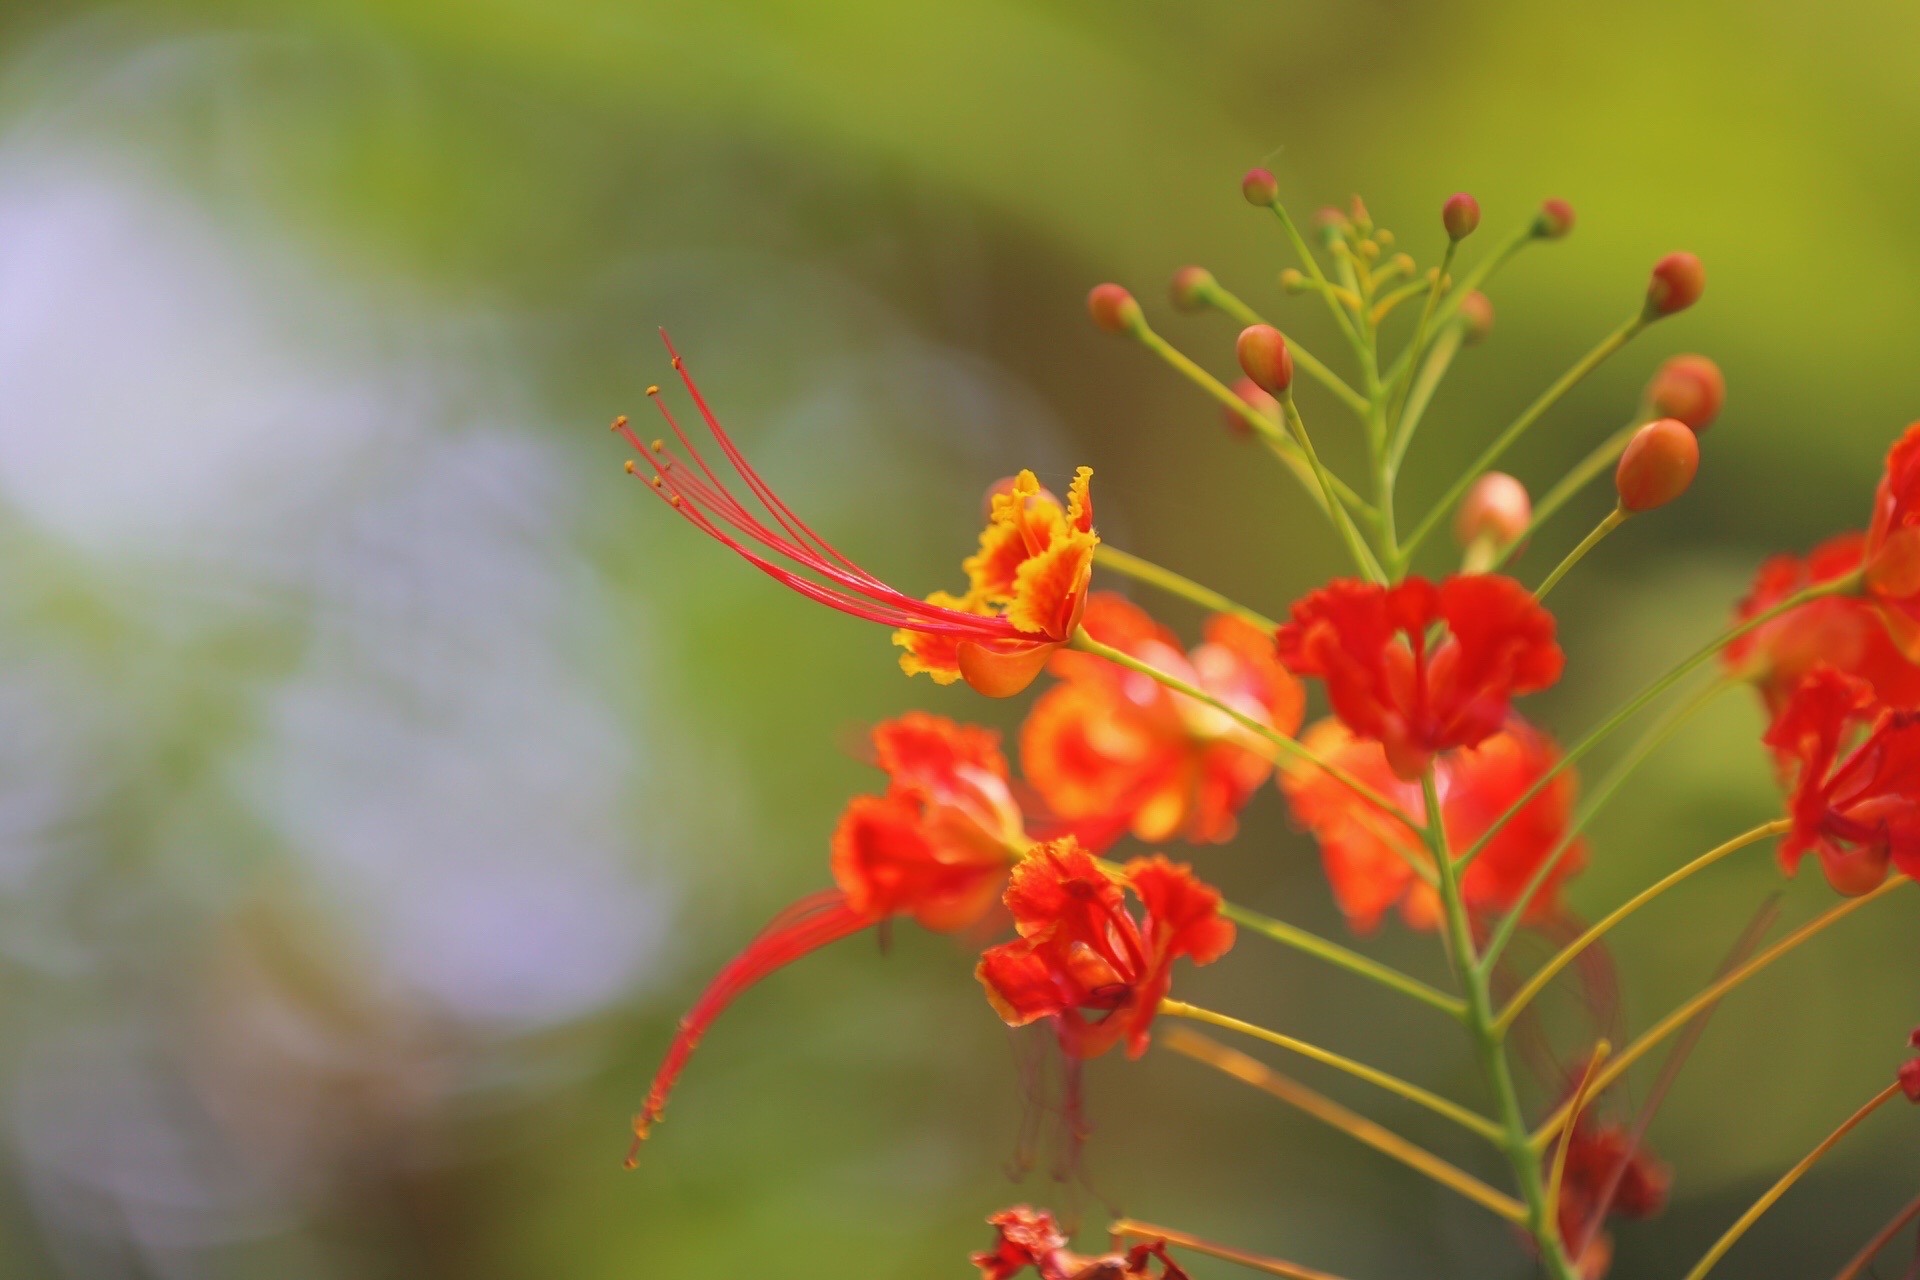
M 1440 906 L 1446 917 L 1448 956 L 1453 961 L 1453 973 L 1461 990 L 1467 992 L 1467 1031 L 1473 1036 L 1480 1071 L 1494 1090 L 1494 1109 L 1501 1125 L 1501 1150 L 1513 1167 L 1513 1180 L 1526 1207 L 1526 1232 L 1534 1238 L 1540 1261 L 1551 1280 L 1578 1280 L 1578 1272 L 1561 1247 L 1559 1230 L 1548 1207 L 1540 1151 L 1526 1132 L 1526 1119 L 1521 1113 L 1521 1094 L 1513 1084 L 1513 1067 L 1507 1063 L 1507 1046 L 1494 1021 L 1494 998 L 1486 973 L 1480 971 L 1473 950 L 1473 925 L 1467 921 L 1467 904 L 1459 892 L 1459 871 L 1453 867 L 1453 856 L 1448 850 L 1446 821 L 1440 816 L 1440 789 L 1434 783 L 1432 768 L 1427 770 L 1421 785 L 1427 796 L 1427 812 L 1432 816 L 1425 833 L 1427 848 L 1440 867 Z

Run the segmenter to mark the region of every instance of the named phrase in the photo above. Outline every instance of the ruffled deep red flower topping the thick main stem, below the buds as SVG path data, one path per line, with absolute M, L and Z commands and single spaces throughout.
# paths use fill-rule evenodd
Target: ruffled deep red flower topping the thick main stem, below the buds
M 1427 633 L 1446 624 L 1432 652 Z M 1332 710 L 1386 748 L 1394 773 L 1417 779 L 1434 752 L 1500 731 L 1507 702 L 1559 679 L 1553 614 L 1496 574 L 1425 578 L 1380 587 L 1332 581 L 1298 601 L 1279 629 L 1281 662 L 1327 681 Z

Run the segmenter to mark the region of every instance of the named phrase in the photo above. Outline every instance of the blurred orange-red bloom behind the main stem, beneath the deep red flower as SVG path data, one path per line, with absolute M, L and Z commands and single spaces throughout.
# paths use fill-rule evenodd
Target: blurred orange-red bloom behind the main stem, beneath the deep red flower
M 1427 821 L 1421 787 L 1394 777 L 1379 743 L 1354 737 L 1336 720 L 1321 720 L 1308 729 L 1302 743 L 1413 818 Z M 1557 762 L 1559 750 L 1553 743 L 1519 718 L 1509 720 L 1505 729 L 1482 739 L 1478 747 L 1461 747 L 1438 756 L 1434 785 L 1440 793 L 1448 846 L 1455 856 L 1486 835 L 1488 827 Z M 1354 929 L 1371 931 L 1396 902 L 1415 929 L 1438 925 L 1440 896 L 1421 879 L 1421 871 L 1432 869 L 1432 858 L 1413 827 L 1311 764 L 1288 766 L 1281 773 L 1281 789 L 1292 806 L 1294 821 L 1311 831 L 1319 842 L 1327 881 Z M 1469 910 L 1507 912 L 1519 902 L 1540 865 L 1567 839 L 1576 794 L 1578 781 L 1572 770 L 1561 770 L 1500 829 L 1500 835 L 1488 841 L 1461 881 L 1461 896 Z M 1559 887 L 1584 864 L 1586 841 L 1574 841 L 1553 864 L 1553 871 L 1528 904 L 1526 917 L 1540 921 L 1559 912 Z

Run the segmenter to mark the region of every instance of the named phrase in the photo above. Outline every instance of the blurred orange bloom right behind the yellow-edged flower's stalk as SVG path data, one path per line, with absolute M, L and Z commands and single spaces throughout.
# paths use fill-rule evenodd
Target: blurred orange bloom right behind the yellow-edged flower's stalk
M 1183 652 L 1146 610 L 1094 593 L 1081 626 L 1150 666 L 1196 685 L 1281 733 L 1300 727 L 1300 681 L 1273 637 L 1229 614 Z M 1020 764 L 1052 814 L 1102 848 L 1123 831 L 1146 842 L 1233 839 L 1236 814 L 1271 773 L 1271 747 L 1217 706 L 1085 652 L 1054 654 L 1062 683 L 1020 731 Z

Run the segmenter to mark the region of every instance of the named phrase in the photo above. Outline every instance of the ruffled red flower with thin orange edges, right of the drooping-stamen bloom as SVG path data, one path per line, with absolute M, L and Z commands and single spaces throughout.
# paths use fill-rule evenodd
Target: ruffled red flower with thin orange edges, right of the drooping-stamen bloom
M 1142 917 L 1127 912 L 1125 889 Z M 1102 871 L 1079 841 L 1050 841 L 1014 867 L 1006 887 L 1020 938 L 979 960 L 987 1000 L 1008 1027 L 1052 1019 L 1069 1057 L 1098 1057 L 1121 1040 L 1146 1052 L 1148 1029 L 1173 983 L 1173 961 L 1219 960 L 1233 923 L 1219 892 L 1185 864 L 1135 858 L 1117 875 Z

